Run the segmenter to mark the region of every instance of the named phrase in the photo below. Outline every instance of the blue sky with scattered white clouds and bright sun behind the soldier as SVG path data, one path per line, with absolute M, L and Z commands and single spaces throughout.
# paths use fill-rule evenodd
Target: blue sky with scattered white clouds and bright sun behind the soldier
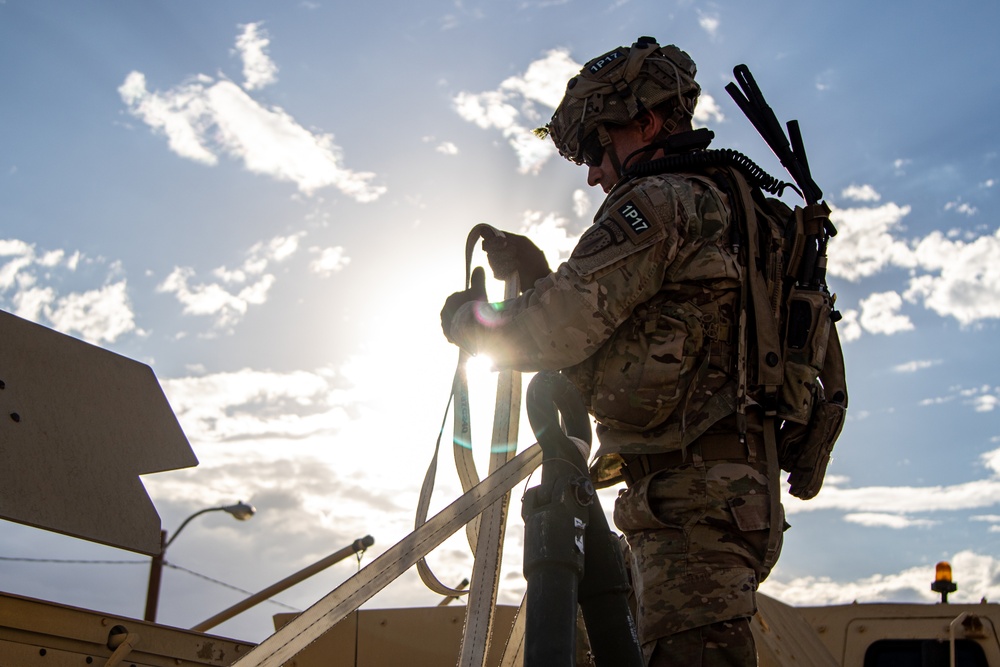
M 156 371 L 201 461 L 146 477 L 164 528 L 257 507 L 246 523 L 199 518 L 168 562 L 255 591 L 366 534 L 370 561 L 412 526 L 456 358 L 438 312 L 462 287 L 466 234 L 486 222 L 531 234 L 553 265 L 568 255 L 600 193 L 527 131 L 581 63 L 652 35 L 698 63 L 715 145 L 784 176 L 724 91 L 750 66 L 779 117 L 800 121 L 840 229 L 849 422 L 820 496 L 787 503 L 764 590 L 930 602 L 949 559 L 951 599 L 1000 598 L 998 14 L 5 0 L 0 308 Z M 485 448 L 492 389 L 477 377 Z M 436 507 L 458 492 L 442 471 Z M 512 514 L 507 603 L 523 592 Z M 137 561 L 5 561 L 0 590 L 142 615 L 142 557 L 12 523 L 0 556 Z M 445 581 L 471 570 L 458 538 L 431 560 Z M 278 599 L 304 609 L 356 568 Z M 160 620 L 189 627 L 242 597 L 168 569 Z M 408 574 L 369 606 L 436 603 Z M 285 610 L 218 632 L 259 641 Z

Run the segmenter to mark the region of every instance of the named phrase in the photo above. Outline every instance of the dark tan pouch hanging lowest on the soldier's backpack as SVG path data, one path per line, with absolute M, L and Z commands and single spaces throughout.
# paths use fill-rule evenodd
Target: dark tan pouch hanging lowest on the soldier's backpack
M 785 422 L 778 433 L 778 465 L 789 473 L 789 493 L 809 500 L 819 493 L 830 463 L 830 452 L 837 442 L 847 407 L 840 403 L 817 400 L 808 424 Z

